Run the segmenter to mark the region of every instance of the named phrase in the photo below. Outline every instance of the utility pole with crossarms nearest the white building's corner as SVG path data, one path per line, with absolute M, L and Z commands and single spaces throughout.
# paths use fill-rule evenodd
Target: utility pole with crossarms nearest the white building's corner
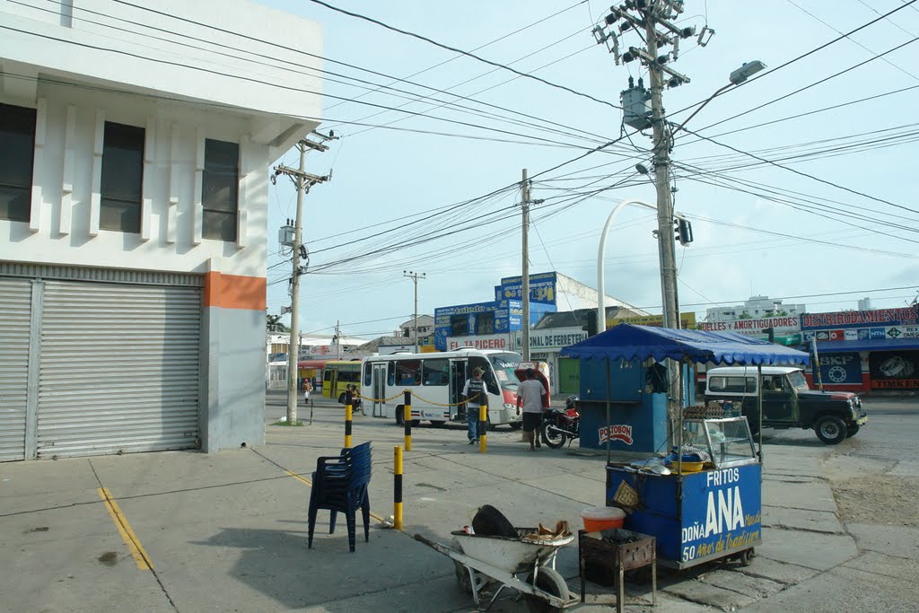
M 312 132 L 323 141 L 330 141 L 335 138 L 333 132 L 329 135 Z M 288 411 L 287 423 L 289 426 L 297 425 L 297 363 L 300 360 L 300 345 L 298 344 L 300 335 L 300 276 L 306 272 L 306 267 L 301 267 L 301 257 L 306 259 L 306 247 L 303 246 L 303 195 L 310 191 L 310 187 L 317 183 L 324 183 L 332 178 L 330 172 L 326 176 L 311 175 L 306 172 L 306 152 L 328 151 L 328 145 L 323 142 L 314 142 L 306 138 L 297 143 L 297 149 L 300 150 L 300 166 L 290 168 L 285 165 L 275 166 L 274 175 L 271 176 L 271 182 L 275 183 L 279 175 L 289 176 L 290 180 L 297 187 L 297 218 L 294 221 L 293 234 L 293 274 L 290 278 L 290 343 L 288 346 Z

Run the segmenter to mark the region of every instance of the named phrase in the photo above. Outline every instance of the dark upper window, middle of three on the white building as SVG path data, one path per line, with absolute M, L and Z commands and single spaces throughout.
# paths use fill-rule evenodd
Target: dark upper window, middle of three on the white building
M 143 128 L 106 121 L 99 228 L 141 233 Z

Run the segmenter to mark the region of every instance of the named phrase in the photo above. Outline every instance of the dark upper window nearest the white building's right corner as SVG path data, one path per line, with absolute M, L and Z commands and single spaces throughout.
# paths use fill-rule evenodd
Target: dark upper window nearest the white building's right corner
M 236 210 L 239 207 L 239 144 L 204 142 L 204 177 L 201 203 L 204 207 L 201 235 L 218 241 L 236 240 Z

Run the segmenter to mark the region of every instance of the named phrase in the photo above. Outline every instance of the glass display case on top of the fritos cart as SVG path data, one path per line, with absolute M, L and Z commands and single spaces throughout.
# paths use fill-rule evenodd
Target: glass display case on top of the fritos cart
M 686 419 L 683 428 L 684 444 L 708 451 L 715 469 L 759 461 L 746 417 Z

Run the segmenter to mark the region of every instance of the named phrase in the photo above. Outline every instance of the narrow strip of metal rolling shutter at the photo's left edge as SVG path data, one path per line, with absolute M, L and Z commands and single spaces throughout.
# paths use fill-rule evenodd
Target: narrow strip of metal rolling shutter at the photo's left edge
M 0 278 L 0 461 L 26 457 L 28 280 Z

